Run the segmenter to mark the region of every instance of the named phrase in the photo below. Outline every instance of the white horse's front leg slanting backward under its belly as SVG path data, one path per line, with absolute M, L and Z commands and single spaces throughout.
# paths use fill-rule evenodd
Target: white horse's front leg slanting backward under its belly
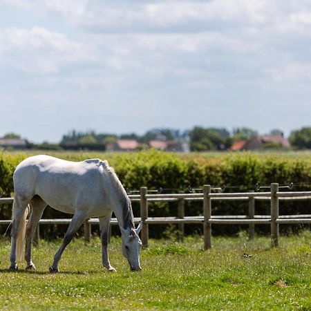
M 75 236 L 75 233 L 77 232 L 77 229 L 79 229 L 79 227 L 82 225 L 85 219 L 86 219 L 86 215 L 84 214 L 73 215 L 73 219 L 71 219 L 67 232 L 64 236 L 63 243 L 62 245 L 60 245 L 59 249 L 57 250 L 57 253 L 54 256 L 53 265 L 50 266 L 49 270 L 51 273 L 55 273 L 59 271 L 58 263 L 59 263 L 60 258 L 62 257 L 64 249 L 71 242 L 71 240 L 73 239 L 73 236 Z

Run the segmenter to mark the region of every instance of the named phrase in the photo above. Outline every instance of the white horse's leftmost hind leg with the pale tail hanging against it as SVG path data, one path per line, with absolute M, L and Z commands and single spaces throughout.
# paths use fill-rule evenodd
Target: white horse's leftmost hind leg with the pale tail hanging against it
M 23 247 L 23 227 L 26 223 L 26 208 L 29 200 L 22 200 L 19 196 L 15 196 L 12 211 L 12 232 L 11 232 L 11 252 L 10 252 L 10 270 L 17 270 L 17 261 L 20 258 L 21 247 Z M 18 243 L 19 242 L 19 243 Z M 18 254 L 17 254 L 18 253 Z

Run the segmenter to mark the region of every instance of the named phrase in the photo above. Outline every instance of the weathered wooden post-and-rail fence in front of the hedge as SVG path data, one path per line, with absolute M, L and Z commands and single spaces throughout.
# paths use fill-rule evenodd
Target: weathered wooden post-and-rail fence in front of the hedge
M 240 193 L 219 193 L 212 192 L 218 189 L 205 185 L 202 193 L 196 194 L 149 194 L 147 187 L 140 188 L 140 194 L 129 195 L 132 202 L 140 202 L 140 218 L 134 218 L 135 223 L 142 221 L 141 239 L 142 245 L 148 247 L 149 225 L 177 224 L 180 232 L 180 239 L 184 236 L 184 225 L 196 223 L 202 224 L 204 232 L 204 249 L 211 247 L 211 225 L 240 224 L 249 225 L 249 238 L 254 238 L 254 226 L 256 224 L 267 224 L 271 226 L 272 247 L 279 246 L 279 225 L 280 224 L 310 224 L 311 214 L 308 215 L 279 215 L 279 201 L 282 200 L 308 200 L 311 198 L 311 191 L 279 191 L 279 184 L 272 183 L 270 191 L 266 192 L 240 192 Z M 202 216 L 185 216 L 185 201 L 202 201 Z M 215 200 L 247 200 L 248 214 L 235 216 L 213 216 L 212 202 Z M 270 215 L 256 215 L 256 200 L 270 200 Z M 0 205 L 12 204 L 12 198 L 0 198 Z M 176 217 L 148 217 L 148 202 L 178 202 L 178 215 Z M 44 224 L 68 224 L 70 218 L 62 219 L 41 219 L 40 225 Z M 10 220 L 0 220 L 0 225 L 9 225 Z M 98 224 L 97 218 L 91 218 L 84 223 L 84 238 L 91 240 L 91 225 Z M 116 225 L 116 218 L 111 219 L 111 225 Z M 39 225 L 35 242 L 39 243 Z

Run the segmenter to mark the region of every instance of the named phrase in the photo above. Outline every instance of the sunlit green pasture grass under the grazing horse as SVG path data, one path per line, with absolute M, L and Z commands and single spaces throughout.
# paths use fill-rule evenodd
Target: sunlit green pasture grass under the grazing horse
M 310 310 L 311 234 L 247 241 L 214 238 L 202 251 L 200 237 L 184 243 L 151 241 L 142 250 L 142 272 L 130 272 L 120 239 L 109 245 L 109 273 L 101 265 L 100 241 L 68 245 L 59 274 L 48 267 L 60 241 L 33 250 L 35 272 L 8 272 L 10 242 L 0 241 L 0 310 Z M 247 255 L 248 256 L 247 256 Z

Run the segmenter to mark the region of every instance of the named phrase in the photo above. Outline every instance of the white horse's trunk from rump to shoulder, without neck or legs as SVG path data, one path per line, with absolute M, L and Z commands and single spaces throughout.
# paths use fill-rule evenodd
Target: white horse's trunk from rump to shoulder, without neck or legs
M 56 209 L 73 212 L 77 200 L 88 204 L 102 201 L 102 181 L 108 165 L 99 159 L 71 162 L 51 156 L 32 156 L 15 170 L 15 194 L 40 196 Z M 96 202 L 95 202 L 96 201 Z

